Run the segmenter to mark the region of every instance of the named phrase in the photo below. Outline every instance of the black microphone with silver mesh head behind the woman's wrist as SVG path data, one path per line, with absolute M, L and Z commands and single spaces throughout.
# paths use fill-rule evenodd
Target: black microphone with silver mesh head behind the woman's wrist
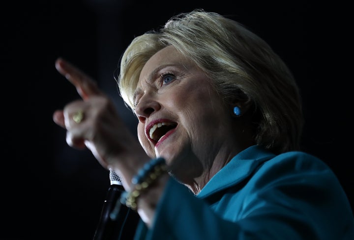
M 93 240 L 120 240 L 121 237 L 124 240 L 133 239 L 134 231 L 123 233 L 130 208 L 120 203 L 120 195 L 124 192 L 124 188 L 113 169 L 110 169 L 110 181 L 111 186 L 108 188 Z M 113 211 L 115 217 L 111 217 Z

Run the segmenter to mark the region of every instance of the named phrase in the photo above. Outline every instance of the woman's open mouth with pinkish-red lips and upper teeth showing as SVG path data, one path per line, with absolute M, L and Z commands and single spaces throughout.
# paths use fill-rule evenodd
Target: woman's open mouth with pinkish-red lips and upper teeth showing
M 176 127 L 177 123 L 175 122 L 171 122 L 166 119 L 158 119 L 148 124 L 146 128 L 146 135 L 151 142 L 156 144 L 161 138 L 163 138 L 163 136 L 166 135 L 166 133 Z

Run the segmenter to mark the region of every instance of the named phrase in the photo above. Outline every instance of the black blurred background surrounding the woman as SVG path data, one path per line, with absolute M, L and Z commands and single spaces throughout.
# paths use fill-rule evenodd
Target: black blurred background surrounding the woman
M 249 27 L 289 65 L 303 96 L 303 150 L 333 169 L 353 206 L 348 6 L 254 0 L 5 1 L 0 240 L 92 240 L 110 186 L 108 170 L 89 151 L 68 147 L 65 131 L 52 120 L 56 109 L 79 98 L 55 69 L 56 58 L 66 58 L 96 79 L 135 133 L 137 121 L 113 79 L 120 55 L 135 36 L 195 8 Z

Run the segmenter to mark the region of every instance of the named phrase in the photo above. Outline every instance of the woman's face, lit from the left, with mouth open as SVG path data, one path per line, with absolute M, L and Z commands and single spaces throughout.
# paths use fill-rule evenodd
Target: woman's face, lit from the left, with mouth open
M 177 175 L 201 174 L 215 159 L 231 114 L 204 72 L 172 46 L 145 64 L 134 94 L 138 137 L 148 155 Z

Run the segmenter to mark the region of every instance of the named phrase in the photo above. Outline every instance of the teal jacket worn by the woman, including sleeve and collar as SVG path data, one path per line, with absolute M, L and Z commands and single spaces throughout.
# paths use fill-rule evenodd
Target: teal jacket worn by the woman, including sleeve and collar
M 171 178 L 153 227 L 135 240 L 354 240 L 354 217 L 338 179 L 322 160 L 274 155 L 251 146 L 198 195 Z

